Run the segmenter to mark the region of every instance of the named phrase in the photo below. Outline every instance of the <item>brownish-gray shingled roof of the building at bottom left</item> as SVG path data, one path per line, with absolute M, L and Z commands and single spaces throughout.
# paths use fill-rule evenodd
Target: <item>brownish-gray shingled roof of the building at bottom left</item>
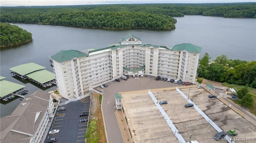
M 27 95 L 10 116 L 2 117 L 1 140 L 2 143 L 29 143 L 38 126 L 47 112 L 50 94 L 43 90 L 38 90 L 33 94 Z M 36 118 L 36 114 L 39 116 Z M 11 130 L 20 131 L 17 133 Z M 24 134 L 26 133 L 26 134 Z

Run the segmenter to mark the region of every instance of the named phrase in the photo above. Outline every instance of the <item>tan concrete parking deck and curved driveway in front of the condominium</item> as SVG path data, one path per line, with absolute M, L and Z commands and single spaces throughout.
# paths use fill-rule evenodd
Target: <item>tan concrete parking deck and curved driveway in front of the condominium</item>
M 166 131 L 164 127 L 167 126 L 168 128 L 168 125 L 162 125 L 164 122 L 161 121 L 163 121 L 164 118 L 159 113 L 152 100 L 148 97 L 147 91 L 149 89 L 154 94 L 155 98 L 157 98 L 157 92 L 159 93 L 158 102 L 162 100 L 168 101 L 168 104 L 162 105 L 162 107 L 186 141 L 190 140 L 190 135 L 192 135 L 191 140 L 198 140 L 200 143 L 215 141 L 214 135 L 217 133 L 217 131 L 193 107 L 184 107 L 184 105 L 188 102 L 175 90 L 176 86 L 186 87 L 180 88 L 180 90 L 186 96 L 189 95 L 189 99 L 192 100 L 192 102 L 194 102 L 194 104 L 196 104 L 223 131 L 227 132 L 230 129 L 240 128 L 236 130 L 238 133 L 236 137 L 229 135 L 230 138 L 233 138 L 233 141 L 242 143 L 246 138 L 247 141 L 249 141 L 250 138 L 252 139 L 251 141 L 253 141 L 253 139 L 256 137 L 256 127 L 252 123 L 242 118 L 242 116 L 220 102 L 220 100 L 216 98 L 208 98 L 209 93 L 203 88 L 196 88 L 196 85 L 184 86 L 166 81 L 155 80 L 155 77 L 150 76 L 140 77 L 140 79 L 130 78 L 128 80 L 121 80 L 120 82 L 113 81 L 108 83 L 108 85 L 108 88 L 104 88 L 103 112 L 104 116 L 107 114 L 108 117 L 105 118 L 105 123 L 107 123 L 106 131 L 112 131 L 112 133 L 108 134 L 109 142 L 116 141 L 114 140 L 114 137 L 117 139 L 117 136 L 114 136 L 117 134 L 114 134 L 115 129 L 113 129 L 113 127 L 115 127 L 114 125 L 116 125 L 113 122 L 115 119 L 111 119 L 110 116 L 112 113 L 114 114 L 115 111 L 114 94 L 119 92 L 121 92 L 123 100 L 125 102 L 129 102 L 129 105 L 126 105 L 126 109 L 131 113 L 128 113 L 127 116 L 129 116 L 128 119 L 131 122 L 131 125 L 136 128 L 134 131 L 139 141 L 149 141 L 150 139 L 152 139 L 150 141 L 155 141 L 154 139 L 160 141 L 160 139 L 164 139 L 164 137 L 173 137 L 173 133 Z M 173 90 L 167 90 L 164 87 L 174 88 Z M 145 90 L 145 95 L 140 93 L 138 90 Z M 127 94 L 130 95 L 124 95 L 123 92 L 126 91 L 134 92 L 127 92 Z M 108 122 L 110 119 L 111 121 Z M 161 129 L 163 131 L 160 131 Z M 116 130 L 119 129 L 117 128 Z M 152 133 L 144 135 L 146 131 L 151 131 Z M 165 135 L 165 133 L 168 135 Z M 159 138 L 154 138 L 153 135 L 159 135 Z M 112 137 L 112 139 L 110 139 L 110 137 Z M 176 142 L 175 139 L 173 142 Z M 226 143 L 227 141 L 218 142 Z

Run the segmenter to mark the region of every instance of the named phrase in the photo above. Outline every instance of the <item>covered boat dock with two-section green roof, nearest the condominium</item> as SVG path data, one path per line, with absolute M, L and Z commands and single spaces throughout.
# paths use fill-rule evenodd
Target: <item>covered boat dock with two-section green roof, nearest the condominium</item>
M 47 71 L 46 67 L 35 63 L 18 65 L 10 68 L 10 71 L 13 76 L 18 76 L 22 80 L 28 79 L 45 88 L 56 84 L 54 73 Z

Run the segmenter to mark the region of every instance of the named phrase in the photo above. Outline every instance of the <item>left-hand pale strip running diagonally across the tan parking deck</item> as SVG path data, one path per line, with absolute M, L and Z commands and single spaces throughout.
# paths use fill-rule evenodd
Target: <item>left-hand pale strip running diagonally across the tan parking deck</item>
M 178 129 L 175 127 L 175 125 L 172 123 L 171 119 L 169 118 L 169 116 L 166 114 L 166 112 L 164 111 L 164 109 L 162 108 L 162 106 L 157 102 L 155 96 L 152 94 L 152 92 L 148 92 L 149 96 L 152 98 L 152 100 L 154 101 L 154 103 L 156 104 L 156 107 L 159 109 L 159 111 L 161 112 L 162 116 L 164 116 L 164 119 L 166 120 L 166 122 L 168 123 L 168 125 L 170 126 L 170 128 L 172 129 L 174 135 L 177 137 L 178 141 L 180 143 L 186 143 L 186 141 L 184 140 L 184 138 L 180 135 Z

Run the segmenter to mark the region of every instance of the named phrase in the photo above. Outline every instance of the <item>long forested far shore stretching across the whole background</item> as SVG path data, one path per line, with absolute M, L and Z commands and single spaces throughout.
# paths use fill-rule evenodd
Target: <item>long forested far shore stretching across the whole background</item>
M 256 18 L 256 3 L 1 7 L 1 22 L 105 29 L 175 29 L 184 15 Z

